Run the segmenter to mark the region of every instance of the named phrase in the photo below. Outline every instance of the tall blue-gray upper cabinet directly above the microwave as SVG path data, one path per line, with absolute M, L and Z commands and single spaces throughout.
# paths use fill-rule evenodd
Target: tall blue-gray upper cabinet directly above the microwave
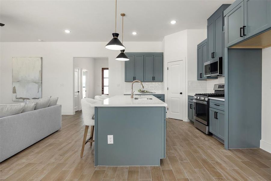
M 229 5 L 223 4 L 207 20 L 207 60 L 222 57 L 223 50 L 223 11 Z

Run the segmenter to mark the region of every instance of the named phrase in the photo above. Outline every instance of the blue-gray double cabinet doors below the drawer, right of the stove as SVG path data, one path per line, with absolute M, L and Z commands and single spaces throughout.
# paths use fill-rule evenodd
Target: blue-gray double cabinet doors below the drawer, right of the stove
M 209 108 L 209 132 L 224 140 L 225 113 L 224 111 Z

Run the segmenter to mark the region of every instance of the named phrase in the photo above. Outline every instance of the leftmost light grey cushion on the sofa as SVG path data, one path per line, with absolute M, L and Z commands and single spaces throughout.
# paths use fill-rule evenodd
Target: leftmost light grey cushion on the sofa
M 25 103 L 19 104 L 0 104 L 0 118 L 19 114 L 22 112 Z

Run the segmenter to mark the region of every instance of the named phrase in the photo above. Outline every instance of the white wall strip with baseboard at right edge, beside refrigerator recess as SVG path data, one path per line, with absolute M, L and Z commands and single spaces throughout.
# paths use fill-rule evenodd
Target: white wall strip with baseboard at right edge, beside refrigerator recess
M 271 153 L 271 47 L 262 54 L 262 138 L 260 148 Z

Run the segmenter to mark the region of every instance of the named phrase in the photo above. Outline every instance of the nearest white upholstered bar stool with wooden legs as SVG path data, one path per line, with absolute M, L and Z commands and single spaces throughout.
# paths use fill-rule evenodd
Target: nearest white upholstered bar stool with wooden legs
M 92 146 L 93 140 L 93 132 L 94 132 L 94 103 L 99 102 L 99 100 L 84 98 L 81 99 L 81 106 L 82 106 L 82 115 L 83 120 L 85 124 L 85 132 L 83 136 L 83 143 L 82 143 L 82 149 L 81 149 L 81 157 L 83 157 L 85 144 L 90 142 L 90 146 Z M 87 139 L 88 135 L 88 127 L 91 126 L 91 134 L 90 138 Z

